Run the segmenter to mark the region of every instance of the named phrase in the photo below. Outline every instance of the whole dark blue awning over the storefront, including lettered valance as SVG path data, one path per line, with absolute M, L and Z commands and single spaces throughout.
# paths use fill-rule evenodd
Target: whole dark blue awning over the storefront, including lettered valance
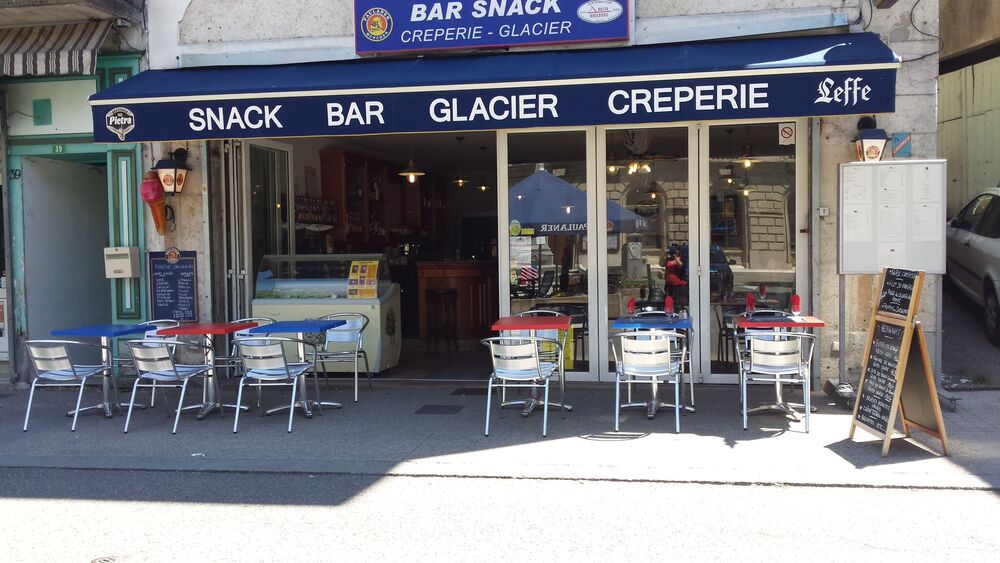
M 871 33 L 614 49 L 150 70 L 91 96 L 95 141 L 883 113 Z

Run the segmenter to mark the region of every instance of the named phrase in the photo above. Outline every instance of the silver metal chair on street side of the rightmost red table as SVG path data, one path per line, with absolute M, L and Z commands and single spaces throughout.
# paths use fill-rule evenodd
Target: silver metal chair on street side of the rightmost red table
M 816 336 L 804 332 L 755 332 L 745 336 L 747 348 L 742 351 L 740 371 L 740 410 L 743 414 L 743 429 L 747 429 L 747 415 L 763 410 L 777 410 L 798 415 L 793 407 L 801 407 L 805 412 L 805 431 L 809 432 L 810 379 L 813 349 Z M 737 347 L 741 341 L 737 340 Z M 772 405 L 747 409 L 747 384 L 752 381 L 774 383 L 776 402 Z M 782 385 L 801 384 L 803 403 L 788 403 L 782 397 Z

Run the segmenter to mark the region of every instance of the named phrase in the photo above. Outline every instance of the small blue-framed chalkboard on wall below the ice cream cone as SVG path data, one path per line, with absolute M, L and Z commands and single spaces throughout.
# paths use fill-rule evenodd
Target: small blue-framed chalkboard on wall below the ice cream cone
M 149 308 L 154 319 L 198 320 L 198 253 L 149 253 Z

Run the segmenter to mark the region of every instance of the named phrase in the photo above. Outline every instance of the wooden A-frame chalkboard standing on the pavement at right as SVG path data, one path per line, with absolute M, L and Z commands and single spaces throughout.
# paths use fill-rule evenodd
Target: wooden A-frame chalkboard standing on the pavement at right
M 856 428 L 879 436 L 882 457 L 889 455 L 897 416 L 906 436 L 911 428 L 923 430 L 940 439 L 948 455 L 927 340 L 914 319 L 923 282 L 924 273 L 912 270 L 885 269 L 879 276 L 850 437 Z

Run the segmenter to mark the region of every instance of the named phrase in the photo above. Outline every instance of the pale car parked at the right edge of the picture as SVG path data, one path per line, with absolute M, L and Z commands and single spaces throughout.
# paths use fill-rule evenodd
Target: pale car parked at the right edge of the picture
M 948 222 L 948 280 L 983 306 L 986 337 L 1000 342 L 1000 187 L 972 198 Z

